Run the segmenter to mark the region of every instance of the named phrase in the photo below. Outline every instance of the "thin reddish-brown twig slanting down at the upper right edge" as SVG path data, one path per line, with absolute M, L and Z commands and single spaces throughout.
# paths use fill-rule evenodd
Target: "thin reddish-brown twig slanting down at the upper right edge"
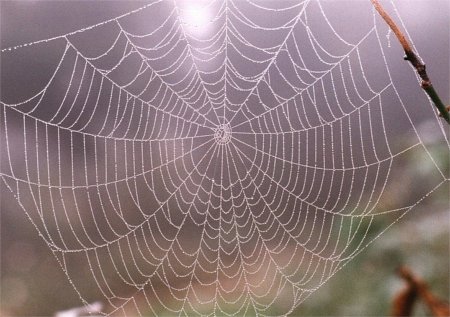
M 387 25 L 391 28 L 392 32 L 394 32 L 395 36 L 397 37 L 398 41 L 403 47 L 403 50 L 405 51 L 405 60 L 409 61 L 411 65 L 416 69 L 417 74 L 422 79 L 421 86 L 423 90 L 427 93 L 427 95 L 430 97 L 430 99 L 433 101 L 436 108 L 438 108 L 441 117 L 447 121 L 447 123 L 450 124 L 450 116 L 448 113 L 448 108 L 444 105 L 444 103 L 439 98 L 439 95 L 437 94 L 436 90 L 434 89 L 433 85 L 431 84 L 430 78 L 428 77 L 425 64 L 422 63 L 422 61 L 419 59 L 417 54 L 412 49 L 411 45 L 409 44 L 408 40 L 406 39 L 403 32 L 399 29 L 397 24 L 395 24 L 394 20 L 386 13 L 386 11 L 383 9 L 383 7 L 380 5 L 378 0 L 370 0 L 372 1 L 373 6 L 377 10 L 377 12 L 381 15 L 383 20 L 387 23 Z

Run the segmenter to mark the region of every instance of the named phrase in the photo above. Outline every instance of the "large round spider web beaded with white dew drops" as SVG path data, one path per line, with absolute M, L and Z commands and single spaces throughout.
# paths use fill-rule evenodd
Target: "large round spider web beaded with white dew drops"
M 289 314 L 448 184 L 412 107 L 448 145 L 445 129 L 403 102 L 401 50 L 365 8 L 153 1 L 2 50 L 18 68 L 53 61 L 35 91 L 3 91 L 1 177 L 83 303 Z M 411 153 L 432 177 L 399 204 Z

